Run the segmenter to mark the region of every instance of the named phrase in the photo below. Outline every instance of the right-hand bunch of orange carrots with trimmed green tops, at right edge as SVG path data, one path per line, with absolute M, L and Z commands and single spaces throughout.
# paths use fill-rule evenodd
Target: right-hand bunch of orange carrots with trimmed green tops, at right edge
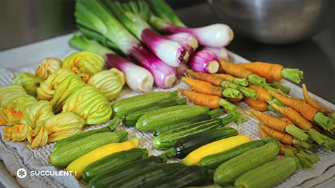
M 327 150 L 335 148 L 335 140 L 332 139 L 335 118 L 333 111 L 325 109 L 308 95 L 305 84 L 302 84 L 302 88 L 304 99 L 268 91 L 272 97 L 285 104 L 279 107 L 267 101 L 281 117 L 269 116 L 256 109 L 250 109 L 246 114 L 258 120 L 260 136 L 271 136 L 281 142 L 281 153 L 284 154 L 290 148 L 305 168 L 313 168 L 318 158 L 305 151 L 316 152 L 319 146 Z

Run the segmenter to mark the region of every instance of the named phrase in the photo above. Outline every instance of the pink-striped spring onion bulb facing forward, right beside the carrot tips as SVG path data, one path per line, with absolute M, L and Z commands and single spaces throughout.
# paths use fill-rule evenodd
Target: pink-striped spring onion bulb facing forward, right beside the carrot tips
M 218 72 L 218 68 L 220 68 L 220 63 L 218 63 L 216 55 L 207 50 L 194 52 L 187 65 L 195 72 L 204 72 L 209 74 Z

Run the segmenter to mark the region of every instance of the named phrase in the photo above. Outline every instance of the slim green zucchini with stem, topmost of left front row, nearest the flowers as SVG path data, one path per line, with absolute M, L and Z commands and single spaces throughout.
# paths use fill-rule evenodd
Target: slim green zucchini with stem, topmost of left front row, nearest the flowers
M 116 128 L 117 125 L 119 125 L 121 122 L 121 120 L 117 117 L 113 118 L 112 121 L 106 126 L 103 127 L 101 129 L 98 130 L 89 130 L 87 132 L 82 132 L 80 134 L 75 134 L 73 136 L 70 136 L 68 138 L 65 139 L 61 139 L 60 141 L 57 141 L 57 143 L 54 144 L 54 150 L 57 150 L 58 148 L 60 148 L 61 146 L 65 146 L 68 143 L 80 140 L 80 139 L 84 139 L 87 136 L 91 136 L 93 134 L 98 134 L 98 133 L 102 133 L 102 132 L 113 132 Z

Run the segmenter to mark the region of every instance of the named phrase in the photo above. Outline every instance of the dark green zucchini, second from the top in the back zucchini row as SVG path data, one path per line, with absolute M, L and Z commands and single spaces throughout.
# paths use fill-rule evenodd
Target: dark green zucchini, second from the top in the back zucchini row
M 142 116 L 144 113 L 148 113 L 149 111 L 155 111 L 158 109 L 164 109 L 166 107 L 185 105 L 186 102 L 187 102 L 186 97 L 177 100 L 164 100 L 161 102 L 156 102 L 155 106 L 126 114 L 124 117 L 122 117 L 122 123 L 124 123 L 124 125 L 126 126 L 134 126 L 137 120 L 140 118 L 140 116 Z

